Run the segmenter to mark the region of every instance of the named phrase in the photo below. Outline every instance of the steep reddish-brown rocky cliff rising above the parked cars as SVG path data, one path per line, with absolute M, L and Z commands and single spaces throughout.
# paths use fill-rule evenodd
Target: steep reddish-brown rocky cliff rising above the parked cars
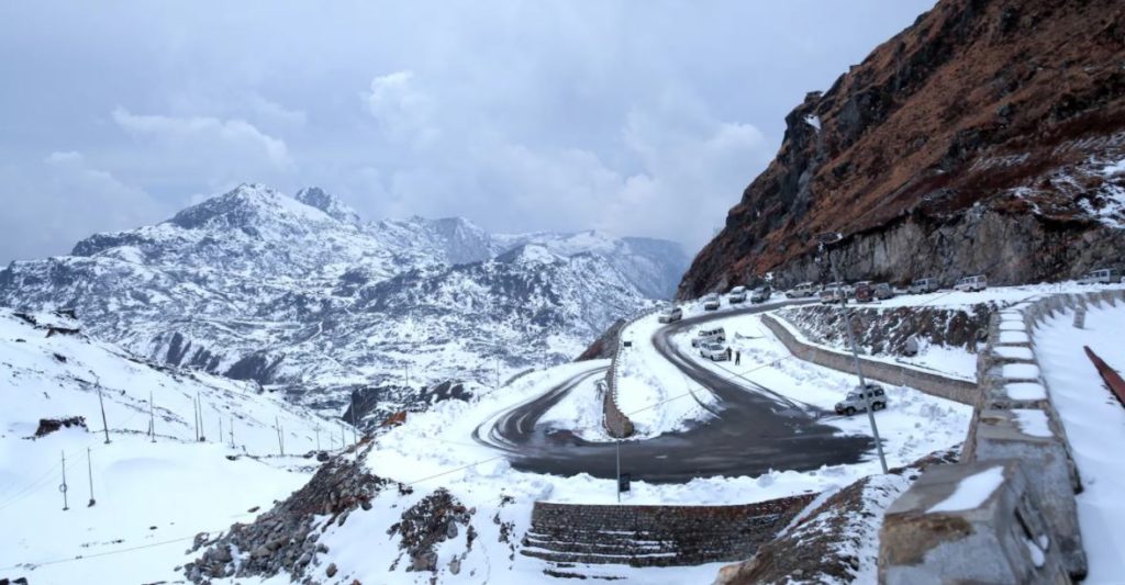
M 786 118 L 773 163 L 681 296 L 772 272 L 993 283 L 1073 277 L 1125 249 L 1125 11 L 942 0 Z

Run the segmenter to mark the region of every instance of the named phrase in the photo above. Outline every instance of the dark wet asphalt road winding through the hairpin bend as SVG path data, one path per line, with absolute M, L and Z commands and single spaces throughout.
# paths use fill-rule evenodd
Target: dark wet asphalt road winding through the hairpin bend
M 684 319 L 652 336 L 657 350 L 694 382 L 695 396 L 711 392 L 713 414 L 691 428 L 647 440 L 621 441 L 621 470 L 634 481 L 680 483 L 695 477 L 759 475 L 770 469 L 814 469 L 822 465 L 857 463 L 874 448 L 868 437 L 834 436 L 838 429 L 818 422 L 830 415 L 814 406 L 785 400 L 770 389 L 745 380 L 727 380 L 681 354 L 670 338 L 694 326 L 776 309 L 746 307 Z M 722 364 L 729 367 L 727 364 Z M 744 366 L 745 367 L 745 366 Z M 604 375 L 597 368 L 574 376 L 539 397 L 520 404 L 482 426 L 474 437 L 510 454 L 512 467 L 562 476 L 588 473 L 612 478 L 616 446 L 590 442 L 565 429 L 539 424 L 539 419 L 578 384 Z M 703 390 L 705 389 L 705 390 Z M 753 390 L 748 390 L 753 389 Z M 702 402 L 701 402 L 702 403 Z M 487 439 L 484 435 L 487 433 Z

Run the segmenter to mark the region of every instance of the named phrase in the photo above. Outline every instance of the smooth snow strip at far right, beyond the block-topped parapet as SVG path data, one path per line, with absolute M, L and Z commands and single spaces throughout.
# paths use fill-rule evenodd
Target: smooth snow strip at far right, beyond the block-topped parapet
M 1125 408 L 1113 396 L 1083 351 L 1089 346 L 1117 372 L 1125 372 L 1125 308 L 1091 308 L 1086 328 L 1073 314 L 1048 320 L 1035 331 L 1035 353 L 1059 410 L 1082 477 L 1078 520 L 1090 564 L 1087 583 L 1120 583 L 1125 575 Z

